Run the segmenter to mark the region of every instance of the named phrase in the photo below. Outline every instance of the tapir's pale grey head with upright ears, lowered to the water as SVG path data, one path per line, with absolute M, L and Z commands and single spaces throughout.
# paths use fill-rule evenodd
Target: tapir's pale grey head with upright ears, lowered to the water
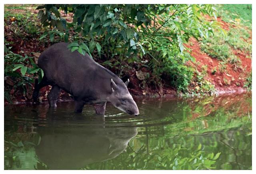
M 139 115 L 139 109 L 127 89 L 128 83 L 129 79 L 125 83 L 120 81 L 118 84 L 111 79 L 110 87 L 112 89 L 112 93 L 108 96 L 108 101 L 110 101 L 117 109 L 120 109 L 130 115 L 137 116 Z

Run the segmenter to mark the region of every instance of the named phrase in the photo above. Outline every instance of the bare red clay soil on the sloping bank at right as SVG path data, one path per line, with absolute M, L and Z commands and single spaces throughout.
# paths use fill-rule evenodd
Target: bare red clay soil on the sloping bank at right
M 229 30 L 229 24 L 223 22 L 220 18 L 218 18 L 218 22 L 221 22 L 221 26 L 225 30 Z M 200 50 L 200 43 L 196 41 L 196 39 L 191 38 L 189 40 L 188 48 L 191 49 L 191 55 L 195 57 L 197 63 L 189 62 L 188 64 L 192 64 L 193 67 L 196 67 L 198 71 L 202 71 L 202 66 L 207 65 L 207 77 L 206 80 L 210 81 L 215 85 L 215 89 L 217 93 L 234 93 L 236 91 L 242 92 L 246 89 L 243 88 L 244 82 L 248 77 L 248 73 L 252 70 L 252 59 L 248 58 L 250 55 L 246 55 L 241 50 L 233 50 L 234 54 L 240 58 L 241 60 L 241 68 L 236 69 L 236 71 L 232 68 L 230 63 L 226 63 L 226 69 L 223 73 L 218 71 L 218 65 L 220 65 L 217 59 L 211 58 L 206 53 Z M 216 73 L 213 75 L 212 71 L 216 68 Z M 225 79 L 225 81 L 224 81 Z

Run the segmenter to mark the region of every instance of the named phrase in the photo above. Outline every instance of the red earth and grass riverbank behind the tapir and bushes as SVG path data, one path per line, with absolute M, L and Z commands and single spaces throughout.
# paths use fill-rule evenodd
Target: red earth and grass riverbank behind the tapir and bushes
M 134 97 L 198 97 L 243 93 L 250 90 L 252 83 L 252 26 L 250 20 L 243 19 L 245 17 L 240 18 L 239 15 L 236 17 L 230 15 L 234 14 L 234 11 L 223 10 L 225 6 L 217 7 L 217 21 L 223 31 L 216 31 L 216 34 L 207 40 L 190 38 L 188 44 L 185 45 L 186 51 L 193 58 L 186 62 L 186 68 L 192 71 L 189 83 L 186 82 L 188 83 L 186 89 L 181 91 L 175 88 L 171 83 L 174 80 L 170 79 L 168 74 L 155 77 L 153 70 L 146 64 L 124 62 L 123 74 L 130 76 L 128 89 Z M 58 42 L 60 36 L 54 35 L 54 42 L 51 37 L 43 38 L 46 29 L 42 28 L 40 21 L 36 18 L 38 10 L 35 9 L 36 5 L 6 5 L 4 8 L 4 38 L 12 53 L 25 58 L 26 56 L 31 57 L 36 63 L 40 53 Z M 64 17 L 69 19 L 70 14 L 64 15 Z M 215 20 L 208 16 L 206 19 Z M 26 26 L 24 26 L 24 22 L 26 22 Z M 226 34 L 225 37 L 222 32 Z M 18 59 L 23 60 L 22 57 L 18 57 Z M 103 65 L 104 61 L 100 57 L 94 57 L 94 59 Z M 150 60 L 147 56 L 142 59 L 143 62 Z M 104 66 L 118 74 L 119 69 L 113 66 L 115 63 L 109 63 Z M 28 66 L 31 66 L 31 62 L 28 62 Z M 5 73 L 6 71 L 10 72 L 5 67 Z M 34 76 L 25 74 L 22 78 L 17 78 L 17 74 L 20 73 L 20 69 L 16 69 L 13 74 L 4 77 L 5 105 L 32 102 Z M 47 101 L 50 89 L 50 86 L 41 89 L 39 101 Z M 59 101 L 70 100 L 72 97 L 65 91 L 61 91 Z

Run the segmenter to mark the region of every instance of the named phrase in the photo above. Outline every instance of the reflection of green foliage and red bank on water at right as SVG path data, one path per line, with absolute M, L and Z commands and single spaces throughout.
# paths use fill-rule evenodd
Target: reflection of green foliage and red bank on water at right
M 84 169 L 249 169 L 252 121 L 243 109 L 250 101 L 210 97 L 183 106 L 181 120 L 141 127 L 120 156 Z

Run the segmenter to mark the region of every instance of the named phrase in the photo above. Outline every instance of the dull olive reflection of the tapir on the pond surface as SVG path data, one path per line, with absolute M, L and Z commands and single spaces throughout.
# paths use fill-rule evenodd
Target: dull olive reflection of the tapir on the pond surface
M 49 169 L 80 169 L 115 158 L 137 134 L 136 127 L 85 128 L 39 127 L 38 159 Z

